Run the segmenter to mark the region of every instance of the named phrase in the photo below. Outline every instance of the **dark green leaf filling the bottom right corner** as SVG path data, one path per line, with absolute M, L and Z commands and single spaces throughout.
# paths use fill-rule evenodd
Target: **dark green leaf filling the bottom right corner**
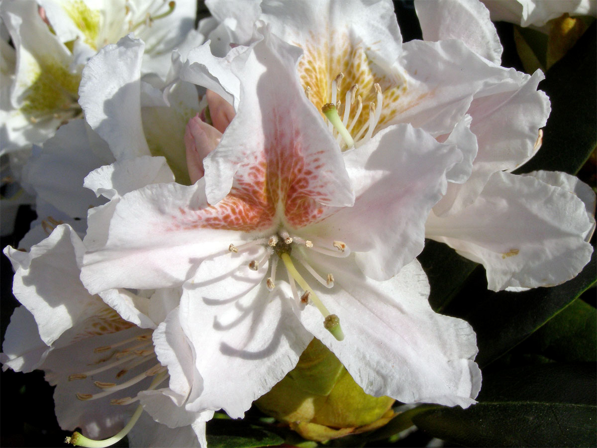
M 479 403 L 413 416 L 463 446 L 595 446 L 595 364 L 543 364 L 484 378 Z

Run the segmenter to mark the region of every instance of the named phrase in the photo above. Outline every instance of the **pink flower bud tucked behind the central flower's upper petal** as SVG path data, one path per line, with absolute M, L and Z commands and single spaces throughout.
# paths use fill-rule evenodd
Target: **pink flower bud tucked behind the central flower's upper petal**
M 203 159 L 216 149 L 221 136 L 221 132 L 202 121 L 199 114 L 193 116 L 187 123 L 184 146 L 186 146 L 187 168 L 191 183 L 203 177 Z

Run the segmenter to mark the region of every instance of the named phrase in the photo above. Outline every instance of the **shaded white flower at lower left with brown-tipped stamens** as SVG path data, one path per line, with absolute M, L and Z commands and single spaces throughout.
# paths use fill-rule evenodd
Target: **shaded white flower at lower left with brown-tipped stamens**
M 165 387 L 169 375 L 161 346 L 166 336 L 158 323 L 177 305 L 180 293 L 155 291 L 147 298 L 129 293 L 131 300 L 148 304 L 153 320 L 124 320 L 81 284 L 83 251 L 67 225 L 57 226 L 28 253 L 5 248 L 16 269 L 13 291 L 22 306 L 5 335 L 4 369 L 44 370 L 45 379 L 56 385 L 61 428 L 79 427 L 93 438 L 113 436 L 89 445 L 85 437 L 73 435 L 73 444 L 109 446 L 128 435 L 131 446 L 205 446 L 205 421 L 212 413 L 181 410 L 174 403 L 177 392 Z

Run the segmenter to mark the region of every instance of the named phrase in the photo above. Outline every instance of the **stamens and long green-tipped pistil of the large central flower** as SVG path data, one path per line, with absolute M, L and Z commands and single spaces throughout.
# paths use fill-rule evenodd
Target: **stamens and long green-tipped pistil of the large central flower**
M 327 256 L 347 257 L 350 254 L 350 250 L 348 250 L 346 244 L 342 241 L 324 241 L 319 238 L 313 241 L 304 240 L 301 237 L 291 236 L 287 231 L 283 230 L 269 238 L 260 238 L 259 240 L 242 244 L 242 246 L 237 247 L 234 244 L 230 244 L 228 250 L 230 252 L 238 253 L 239 251 L 249 250 L 256 246 L 264 246 L 266 248 L 265 253 L 260 259 L 251 260 L 248 263 L 248 268 L 257 271 L 259 266 L 263 266 L 264 263 L 269 263 L 267 268 L 269 276 L 266 279 L 267 289 L 270 291 L 275 289 L 276 275 L 278 275 L 278 260 L 282 260 L 282 265 L 286 269 L 288 283 L 290 284 L 290 289 L 293 292 L 293 298 L 297 305 L 301 308 L 304 308 L 304 306 L 309 304 L 314 305 L 324 317 L 325 329 L 336 337 L 337 340 L 343 340 L 344 333 L 340 327 L 340 319 L 336 314 L 330 313 L 315 291 L 309 286 L 309 283 L 307 283 L 300 272 L 298 272 L 294 262 L 297 262 L 298 265 L 309 272 L 316 281 L 327 288 L 334 286 L 334 275 L 330 273 L 327 274 L 325 278 L 322 277 L 311 265 L 309 265 L 307 260 L 302 256 L 301 251 L 293 251 L 293 248 L 304 247 Z M 300 294 L 297 284 L 302 290 Z

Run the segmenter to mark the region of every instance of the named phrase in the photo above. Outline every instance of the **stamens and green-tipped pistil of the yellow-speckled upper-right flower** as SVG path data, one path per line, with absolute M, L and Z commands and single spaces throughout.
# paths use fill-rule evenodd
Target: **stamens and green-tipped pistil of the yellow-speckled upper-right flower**
M 322 106 L 321 111 L 324 113 L 328 121 L 328 128 L 336 137 L 338 145 L 344 150 L 350 149 L 353 146 L 361 146 L 367 142 L 373 131 L 380 121 L 381 108 L 383 106 L 383 93 L 381 86 L 374 84 L 376 91 L 376 102 L 370 102 L 369 118 L 365 121 L 361 118 L 363 112 L 363 102 L 361 95 L 358 94 L 358 84 L 352 85 L 344 96 L 344 103 L 337 99 L 337 93 L 340 91 L 340 82 L 344 78 L 344 74 L 340 73 L 332 81 L 332 95 L 331 102 Z M 309 97 L 310 88 L 307 87 L 305 93 Z M 340 109 L 343 110 L 342 118 L 340 118 Z

